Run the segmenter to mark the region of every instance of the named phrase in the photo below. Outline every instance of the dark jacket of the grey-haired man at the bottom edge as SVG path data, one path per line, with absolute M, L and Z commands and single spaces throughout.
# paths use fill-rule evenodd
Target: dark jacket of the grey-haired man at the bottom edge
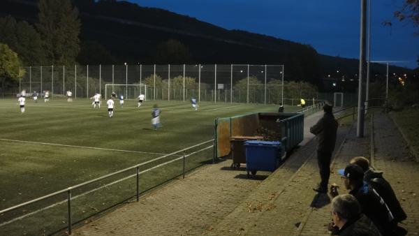
M 368 219 L 365 214 L 361 214 L 358 219 L 348 221 L 336 235 L 341 236 L 381 236 L 380 232 L 374 226 L 374 223 Z

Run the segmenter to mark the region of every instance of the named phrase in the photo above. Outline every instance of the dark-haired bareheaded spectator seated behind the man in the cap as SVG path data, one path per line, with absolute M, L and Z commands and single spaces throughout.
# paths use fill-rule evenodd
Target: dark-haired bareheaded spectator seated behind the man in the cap
M 393 223 L 397 225 L 397 222 L 404 221 L 407 218 L 406 212 L 404 212 L 399 200 L 397 200 L 390 183 L 384 179 L 383 172 L 370 167 L 369 161 L 364 156 L 355 156 L 349 163 L 358 165 L 364 170 L 364 181 L 370 184 L 388 205 L 388 208 L 395 217 Z

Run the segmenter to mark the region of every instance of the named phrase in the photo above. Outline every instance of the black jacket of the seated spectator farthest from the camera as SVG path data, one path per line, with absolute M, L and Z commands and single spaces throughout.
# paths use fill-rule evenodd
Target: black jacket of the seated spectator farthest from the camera
M 383 172 L 369 168 L 364 174 L 364 180 L 383 198 L 395 217 L 395 222 L 400 222 L 407 218 L 406 212 L 402 209 L 391 185 L 384 179 Z

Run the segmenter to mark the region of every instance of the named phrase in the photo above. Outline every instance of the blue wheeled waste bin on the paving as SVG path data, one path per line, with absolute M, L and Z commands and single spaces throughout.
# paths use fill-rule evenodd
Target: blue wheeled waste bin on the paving
M 258 170 L 274 171 L 281 163 L 281 142 L 277 141 L 246 141 L 246 170 L 256 175 Z

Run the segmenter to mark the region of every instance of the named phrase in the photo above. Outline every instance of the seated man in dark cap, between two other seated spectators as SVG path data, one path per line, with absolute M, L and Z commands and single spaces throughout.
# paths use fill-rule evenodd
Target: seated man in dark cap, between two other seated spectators
M 380 230 L 382 235 L 392 235 L 395 230 L 392 212 L 388 209 L 383 198 L 372 188 L 371 185 L 364 182 L 364 171 L 358 165 L 348 165 L 343 170 L 338 170 L 344 179 L 346 189 L 360 203 L 362 213 L 364 213 L 374 225 Z

